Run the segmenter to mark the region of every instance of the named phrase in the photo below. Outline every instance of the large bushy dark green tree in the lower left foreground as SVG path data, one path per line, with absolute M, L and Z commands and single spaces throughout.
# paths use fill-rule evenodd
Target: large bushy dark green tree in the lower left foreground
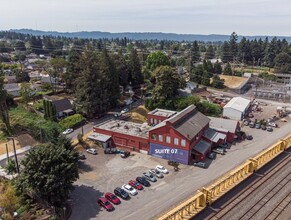
M 22 160 L 16 186 L 22 193 L 35 195 L 57 208 L 64 207 L 79 178 L 78 154 L 62 136 L 32 148 Z

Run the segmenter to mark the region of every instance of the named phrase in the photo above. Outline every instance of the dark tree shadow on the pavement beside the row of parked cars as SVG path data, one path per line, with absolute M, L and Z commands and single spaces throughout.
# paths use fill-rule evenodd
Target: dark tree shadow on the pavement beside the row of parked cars
M 70 220 L 86 220 L 95 218 L 101 210 L 97 204 L 97 199 L 103 193 L 94 189 L 92 186 L 75 185 L 71 193 L 72 214 Z

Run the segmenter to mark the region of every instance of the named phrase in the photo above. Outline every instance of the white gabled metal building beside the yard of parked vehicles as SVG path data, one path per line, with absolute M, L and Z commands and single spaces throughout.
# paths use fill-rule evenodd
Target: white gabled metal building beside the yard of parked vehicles
M 248 99 L 234 97 L 223 107 L 223 117 L 242 120 L 250 104 L 251 101 Z

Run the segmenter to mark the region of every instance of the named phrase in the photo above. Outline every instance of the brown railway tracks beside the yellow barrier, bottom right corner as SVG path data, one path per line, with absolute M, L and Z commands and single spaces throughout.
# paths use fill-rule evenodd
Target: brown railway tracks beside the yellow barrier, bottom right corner
M 192 219 L 291 219 L 290 182 L 289 150 Z

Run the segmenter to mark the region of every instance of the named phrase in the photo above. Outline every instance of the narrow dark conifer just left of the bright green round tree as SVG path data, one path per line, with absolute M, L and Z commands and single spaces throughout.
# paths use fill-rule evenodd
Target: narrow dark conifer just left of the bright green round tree
M 135 49 L 131 50 L 129 54 L 129 76 L 128 80 L 132 85 L 139 85 L 143 83 L 143 75 L 141 73 L 141 65 Z

